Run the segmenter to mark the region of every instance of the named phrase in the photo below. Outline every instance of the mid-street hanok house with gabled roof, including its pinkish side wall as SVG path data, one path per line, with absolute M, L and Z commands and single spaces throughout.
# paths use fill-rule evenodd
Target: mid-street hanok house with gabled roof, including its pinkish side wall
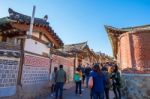
M 89 49 L 87 42 L 64 45 L 60 49 L 53 50 L 52 53 L 51 70 L 63 64 L 67 71 L 68 82 L 73 81 L 74 71 L 79 64 L 87 66 L 87 63 L 96 63 L 98 60 L 98 56 Z

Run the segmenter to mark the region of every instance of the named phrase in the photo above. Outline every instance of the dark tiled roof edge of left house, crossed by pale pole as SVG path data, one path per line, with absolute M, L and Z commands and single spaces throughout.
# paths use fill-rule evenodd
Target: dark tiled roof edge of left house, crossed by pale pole
M 15 12 L 13 9 L 9 8 L 9 17 L 4 17 L 0 19 L 0 25 L 9 23 L 9 22 L 19 22 L 19 23 L 26 23 L 30 24 L 31 17 Z M 47 31 L 56 39 L 61 46 L 64 45 L 63 41 L 59 38 L 59 36 L 54 32 L 54 30 L 49 26 L 49 22 L 42 18 L 34 18 L 34 25 L 40 25 L 44 28 L 47 28 Z

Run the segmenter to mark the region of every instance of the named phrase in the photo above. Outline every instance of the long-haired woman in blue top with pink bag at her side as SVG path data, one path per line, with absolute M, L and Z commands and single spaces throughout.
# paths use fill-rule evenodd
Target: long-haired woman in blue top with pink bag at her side
M 90 73 L 89 88 L 91 88 L 92 99 L 104 99 L 104 88 L 106 77 L 98 64 L 95 64 Z

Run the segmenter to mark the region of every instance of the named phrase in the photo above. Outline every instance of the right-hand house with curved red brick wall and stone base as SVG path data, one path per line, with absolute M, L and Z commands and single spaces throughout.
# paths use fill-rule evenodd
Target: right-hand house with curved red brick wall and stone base
M 125 99 L 150 99 L 150 25 L 105 26 L 124 80 Z

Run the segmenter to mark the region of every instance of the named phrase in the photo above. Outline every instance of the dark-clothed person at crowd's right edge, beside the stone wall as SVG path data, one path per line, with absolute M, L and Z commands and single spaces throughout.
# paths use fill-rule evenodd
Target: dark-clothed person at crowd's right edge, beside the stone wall
M 121 78 L 120 78 L 120 72 L 118 71 L 118 66 L 114 65 L 114 70 L 112 72 L 112 85 L 113 85 L 113 91 L 115 94 L 115 99 L 121 99 Z

